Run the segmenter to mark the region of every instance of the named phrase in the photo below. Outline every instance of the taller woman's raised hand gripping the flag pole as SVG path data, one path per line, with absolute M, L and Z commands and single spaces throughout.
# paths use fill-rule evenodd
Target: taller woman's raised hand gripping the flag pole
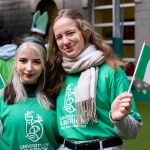
M 111 105 L 111 119 L 119 121 L 128 116 L 131 110 L 132 94 L 124 92 L 120 94 Z

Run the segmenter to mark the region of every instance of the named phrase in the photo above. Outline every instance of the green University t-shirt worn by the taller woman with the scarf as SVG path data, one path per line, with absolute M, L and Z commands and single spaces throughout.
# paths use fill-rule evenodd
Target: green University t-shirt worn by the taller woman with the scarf
M 75 106 L 75 91 L 79 77 L 80 73 L 67 75 L 64 88 L 57 98 L 57 119 L 60 135 L 73 142 L 117 137 L 114 124 L 109 118 L 109 112 L 114 99 L 120 93 L 128 90 L 129 81 L 125 72 L 121 68 L 118 68 L 118 71 L 115 72 L 107 64 L 99 67 L 96 93 L 98 122 L 89 122 L 88 124 L 82 124 L 80 127 L 76 121 Z M 141 120 L 133 99 L 130 115 L 137 120 Z

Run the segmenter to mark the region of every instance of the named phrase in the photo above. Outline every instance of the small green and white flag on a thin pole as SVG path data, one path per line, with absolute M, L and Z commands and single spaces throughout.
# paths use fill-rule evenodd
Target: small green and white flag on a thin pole
M 150 85 L 150 47 L 145 42 L 143 43 L 128 93 L 131 90 L 135 77 Z

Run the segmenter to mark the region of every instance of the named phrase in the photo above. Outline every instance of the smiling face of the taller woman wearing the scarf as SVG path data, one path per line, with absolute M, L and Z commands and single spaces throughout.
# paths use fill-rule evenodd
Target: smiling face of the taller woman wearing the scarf
M 85 42 L 74 20 L 67 17 L 58 19 L 53 25 L 53 32 L 63 55 L 74 58 L 81 53 Z

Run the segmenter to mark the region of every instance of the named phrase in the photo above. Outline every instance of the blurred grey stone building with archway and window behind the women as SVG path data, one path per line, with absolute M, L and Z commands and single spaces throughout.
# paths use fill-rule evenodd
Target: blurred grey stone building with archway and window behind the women
M 118 9 L 116 3 L 120 3 Z M 80 11 L 112 44 L 116 30 L 116 16 L 119 15 L 120 38 L 123 39 L 119 55 L 134 61 L 144 41 L 150 36 L 149 0 L 1 0 L 0 28 L 7 28 L 13 34 L 30 30 L 32 16 L 36 10 L 47 11 L 49 21 L 58 9 L 74 8 Z

